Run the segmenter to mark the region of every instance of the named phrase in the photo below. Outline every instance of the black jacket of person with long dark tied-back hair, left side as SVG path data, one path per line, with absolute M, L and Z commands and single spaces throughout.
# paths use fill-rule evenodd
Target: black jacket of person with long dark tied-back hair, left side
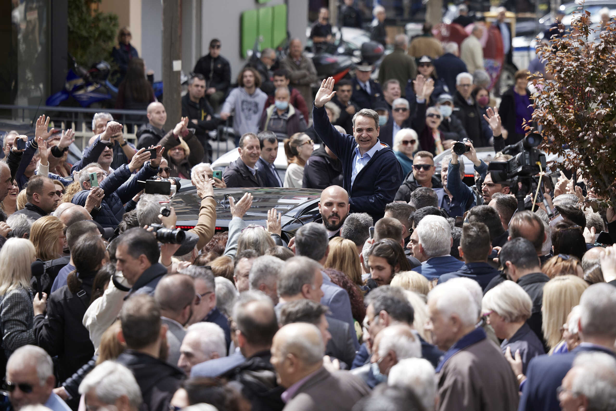
M 58 381 L 64 381 L 73 375 L 94 355 L 94 346 L 82 321 L 90 303 L 95 274 L 78 274 L 78 277 L 83 277 L 83 283 L 77 293 L 71 293 L 68 285 L 51 293 L 47 301 L 47 315 L 39 314 L 34 317 L 36 345 L 50 356 L 58 357 Z

